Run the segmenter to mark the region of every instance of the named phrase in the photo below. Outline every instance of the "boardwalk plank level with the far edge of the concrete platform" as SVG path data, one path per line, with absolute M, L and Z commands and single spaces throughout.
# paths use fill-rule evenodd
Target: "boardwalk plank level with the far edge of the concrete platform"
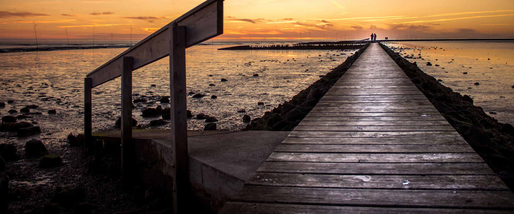
M 434 138 L 461 137 L 456 131 L 296 131 L 289 137 L 325 137 L 325 138 Z M 410 139 L 405 139 L 410 141 Z

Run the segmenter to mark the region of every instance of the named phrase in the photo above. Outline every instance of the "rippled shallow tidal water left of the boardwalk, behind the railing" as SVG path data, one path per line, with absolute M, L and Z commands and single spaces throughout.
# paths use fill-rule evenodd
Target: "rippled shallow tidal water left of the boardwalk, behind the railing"
M 46 45 L 62 45 L 62 42 Z M 254 42 L 248 41 L 246 44 Z M 204 98 L 188 95 L 188 109 L 194 115 L 205 113 L 214 116 L 219 120 L 217 128 L 225 130 L 246 127 L 247 124 L 242 122 L 244 114 L 253 119 L 290 100 L 318 80 L 319 75 L 331 71 L 357 50 L 217 50 L 233 46 L 237 41 L 232 41 L 230 45 L 228 43 L 207 41 L 186 51 L 187 91 L 207 95 Z M 11 43 L 2 48 L 18 45 Z M 0 53 L 0 102 L 6 103 L 6 107 L 0 108 L 0 116 L 8 115 L 10 109 L 20 111 L 27 105 L 35 104 L 39 107 L 31 112 L 42 114 L 34 114 L 31 115 L 33 118 L 20 121 L 38 122 L 42 129 L 41 138 L 57 142 L 65 139 L 70 132 L 82 132 L 85 75 L 124 50 Z M 169 104 L 159 102 L 160 98 L 169 95 L 168 63 L 166 57 L 133 72 L 133 99 L 148 100 L 146 103 L 135 103 L 133 116 L 138 124 L 149 124 L 151 120 L 160 118 L 142 118 L 143 109 L 158 105 L 169 107 Z M 222 78 L 228 81 L 221 82 Z M 211 99 L 211 95 L 216 95 L 217 99 Z M 8 100 L 14 103 L 8 104 Z M 264 102 L 264 105 L 258 105 L 258 102 Z M 49 109 L 56 109 L 57 114 L 48 114 Z M 241 109 L 246 112 L 238 113 Z M 114 124 L 120 111 L 119 78 L 93 89 L 94 131 L 116 129 Z M 203 130 L 205 125 L 205 120 L 188 120 L 188 129 Z M 150 128 L 168 127 L 169 124 Z M 14 138 L 5 132 L 0 134 L 5 142 L 24 143 L 34 137 Z

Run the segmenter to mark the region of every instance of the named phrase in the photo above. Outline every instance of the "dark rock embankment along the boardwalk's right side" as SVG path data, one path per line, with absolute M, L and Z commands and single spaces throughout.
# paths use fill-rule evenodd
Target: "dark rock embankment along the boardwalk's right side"
M 396 64 L 411 78 L 448 123 L 514 190 L 514 127 L 491 118 L 480 106 L 473 105 L 469 95 L 461 95 L 424 73 L 416 64 L 380 44 Z

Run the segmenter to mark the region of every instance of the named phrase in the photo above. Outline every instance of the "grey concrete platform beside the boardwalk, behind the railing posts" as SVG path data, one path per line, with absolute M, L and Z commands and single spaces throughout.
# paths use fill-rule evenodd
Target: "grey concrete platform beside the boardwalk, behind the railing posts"
M 120 131 L 93 133 L 116 154 Z M 204 209 L 219 210 L 240 189 L 269 155 L 287 138 L 284 131 L 188 131 L 189 175 Z M 136 159 L 145 186 L 170 189 L 171 130 L 135 129 Z

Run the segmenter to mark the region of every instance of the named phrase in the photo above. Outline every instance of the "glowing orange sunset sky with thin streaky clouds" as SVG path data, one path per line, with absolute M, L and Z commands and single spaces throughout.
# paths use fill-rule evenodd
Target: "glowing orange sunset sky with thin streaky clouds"
M 204 1 L 0 2 L 0 38 L 142 39 Z M 514 1 L 226 0 L 217 38 L 514 37 Z M 95 28 L 93 30 L 93 27 Z M 66 31 L 65 31 L 66 30 Z

